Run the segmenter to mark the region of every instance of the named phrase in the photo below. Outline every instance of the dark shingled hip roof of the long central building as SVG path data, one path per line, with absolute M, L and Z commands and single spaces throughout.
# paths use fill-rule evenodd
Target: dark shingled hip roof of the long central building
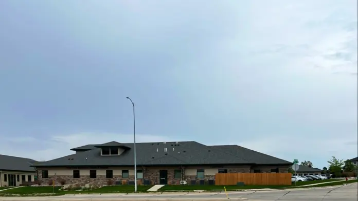
M 86 150 L 61 158 L 39 162 L 40 166 L 133 166 L 133 143 L 110 144 L 129 149 L 116 156 L 101 156 L 98 145 L 86 145 L 71 150 Z M 223 148 L 226 148 L 225 150 Z M 137 143 L 137 165 L 210 165 L 210 164 L 285 164 L 291 162 L 239 146 L 206 146 L 197 142 Z M 165 152 L 165 149 L 167 150 Z M 231 150 L 231 153 L 228 151 Z M 243 152 L 243 153 L 241 153 Z

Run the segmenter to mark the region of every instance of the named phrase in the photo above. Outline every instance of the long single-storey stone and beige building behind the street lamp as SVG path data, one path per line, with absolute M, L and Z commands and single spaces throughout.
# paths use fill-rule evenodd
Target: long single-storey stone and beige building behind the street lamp
M 105 185 L 134 180 L 132 144 L 117 142 L 71 149 L 75 154 L 38 162 L 44 184 Z M 197 142 L 137 143 L 138 184 L 180 184 L 213 180 L 216 173 L 288 172 L 291 162 L 236 145 L 206 146 Z M 41 174 L 40 174 L 41 171 Z M 201 180 L 201 181 L 200 181 Z M 61 182 L 62 181 L 62 182 Z

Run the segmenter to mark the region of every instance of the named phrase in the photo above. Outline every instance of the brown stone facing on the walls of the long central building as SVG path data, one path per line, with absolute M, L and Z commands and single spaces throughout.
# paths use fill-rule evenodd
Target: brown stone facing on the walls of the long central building
M 204 180 L 205 183 L 208 183 L 208 180 L 215 179 L 215 175 L 205 175 L 204 178 L 196 178 L 196 175 L 186 175 L 186 169 L 212 169 L 213 167 L 142 167 L 143 170 L 143 177 L 142 179 L 137 179 L 137 184 L 141 185 L 144 184 L 144 180 L 150 180 L 151 185 L 159 184 L 159 171 L 160 170 L 167 170 L 167 182 L 168 185 L 180 185 L 181 180 L 187 180 L 188 184 L 191 184 L 192 180 L 196 180 L 196 184 L 199 184 L 200 180 Z M 268 167 L 268 166 L 227 166 L 227 167 L 220 167 L 214 169 L 226 169 L 228 173 L 250 173 L 253 172 L 254 169 L 260 169 L 262 173 L 264 172 L 271 172 L 271 169 L 278 168 L 279 172 L 287 173 L 289 166 L 287 167 Z M 140 168 L 138 168 L 139 170 Z M 182 174 L 180 178 L 174 177 L 175 170 L 182 170 Z M 44 185 L 51 184 L 52 180 L 55 179 L 56 185 L 61 185 L 61 180 L 65 180 L 65 184 L 72 184 L 72 185 L 83 185 L 83 184 L 93 184 L 93 185 L 108 185 L 110 183 L 115 184 L 115 182 L 122 180 L 124 183 L 128 183 L 130 180 L 134 180 L 134 175 L 130 175 L 127 179 L 122 179 L 121 175 L 113 175 L 113 178 L 106 178 L 106 176 L 97 175 L 96 178 L 89 178 L 89 175 L 81 175 L 80 178 L 73 178 L 72 175 L 56 175 L 56 176 L 49 176 L 49 178 L 42 178 L 41 170 L 39 170 L 39 180 Z M 111 182 L 109 182 L 111 181 Z

